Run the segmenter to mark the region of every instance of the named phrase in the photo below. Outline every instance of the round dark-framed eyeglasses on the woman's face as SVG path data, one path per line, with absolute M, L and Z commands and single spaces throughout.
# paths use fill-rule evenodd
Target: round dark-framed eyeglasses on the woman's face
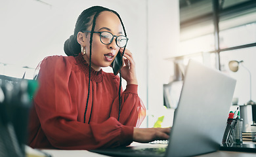
M 91 33 L 91 31 L 82 31 L 83 33 L 88 32 Z M 110 44 L 112 43 L 114 37 L 116 37 L 116 45 L 119 48 L 123 48 L 127 42 L 128 38 L 124 35 L 112 35 L 112 33 L 108 31 L 93 31 L 93 33 L 99 33 L 100 34 L 100 41 L 102 44 Z

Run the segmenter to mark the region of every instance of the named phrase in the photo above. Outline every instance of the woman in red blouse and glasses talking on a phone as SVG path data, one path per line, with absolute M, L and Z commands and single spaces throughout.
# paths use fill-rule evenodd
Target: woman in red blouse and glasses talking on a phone
M 125 50 L 127 40 L 114 10 L 96 6 L 80 14 L 74 35 L 64 44 L 68 56 L 41 62 L 28 145 L 89 150 L 168 139 L 169 128 L 136 128 L 145 108 L 137 94 L 133 56 Z M 119 77 L 101 69 L 110 66 L 118 52 L 125 62 L 120 73 L 127 81 L 124 91 Z

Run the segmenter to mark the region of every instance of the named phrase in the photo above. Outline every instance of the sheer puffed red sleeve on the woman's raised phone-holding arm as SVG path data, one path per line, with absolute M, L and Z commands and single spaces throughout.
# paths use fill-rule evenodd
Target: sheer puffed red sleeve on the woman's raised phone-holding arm
M 119 77 L 115 77 L 116 86 L 119 86 Z M 146 116 L 146 108 L 138 96 L 138 85 L 128 84 L 126 89 L 121 92 L 121 113 L 119 122 L 126 126 L 139 127 Z M 116 117 L 119 113 L 119 97 L 117 96 L 112 106 L 111 116 Z M 118 116 L 117 116 L 118 117 Z

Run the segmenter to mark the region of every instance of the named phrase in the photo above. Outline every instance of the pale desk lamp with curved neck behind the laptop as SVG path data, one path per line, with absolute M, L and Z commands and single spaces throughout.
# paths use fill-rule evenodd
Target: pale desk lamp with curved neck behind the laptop
M 236 72 L 239 69 L 239 65 L 242 65 L 248 72 L 249 72 L 249 76 L 250 76 L 250 100 L 245 104 L 245 105 L 256 105 L 256 103 L 254 101 L 251 100 L 251 72 L 249 71 L 249 69 L 247 69 L 242 63 L 244 61 L 236 61 L 236 60 L 232 60 L 229 61 L 228 63 L 228 67 L 231 71 Z

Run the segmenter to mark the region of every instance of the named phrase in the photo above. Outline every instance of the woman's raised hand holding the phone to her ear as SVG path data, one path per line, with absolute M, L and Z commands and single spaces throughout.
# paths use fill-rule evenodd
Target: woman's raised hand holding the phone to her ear
M 120 52 L 123 52 L 123 48 L 120 48 Z M 123 60 L 125 61 L 125 65 L 121 68 L 121 76 L 126 80 L 127 84 L 138 84 L 133 54 L 126 48 L 123 54 Z

